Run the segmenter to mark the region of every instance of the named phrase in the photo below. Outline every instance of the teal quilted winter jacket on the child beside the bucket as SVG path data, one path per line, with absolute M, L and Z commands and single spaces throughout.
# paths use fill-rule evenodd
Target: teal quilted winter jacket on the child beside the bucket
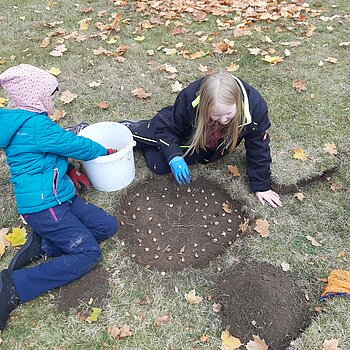
M 0 148 L 10 166 L 18 212 L 30 214 L 72 198 L 75 187 L 66 174 L 68 157 L 105 156 L 100 144 L 65 131 L 46 113 L 0 109 Z

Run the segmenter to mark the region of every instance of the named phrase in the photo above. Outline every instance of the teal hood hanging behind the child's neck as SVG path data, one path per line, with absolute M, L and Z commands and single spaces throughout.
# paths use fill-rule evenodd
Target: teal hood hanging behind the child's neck
M 0 148 L 5 148 L 24 122 L 34 114 L 19 109 L 0 109 Z

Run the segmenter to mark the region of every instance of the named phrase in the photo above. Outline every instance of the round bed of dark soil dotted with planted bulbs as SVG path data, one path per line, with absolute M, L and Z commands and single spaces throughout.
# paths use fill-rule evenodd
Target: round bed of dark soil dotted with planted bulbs
M 131 258 L 160 271 L 206 266 L 239 236 L 242 219 L 218 184 L 201 178 L 179 186 L 172 176 L 130 188 L 117 216 Z

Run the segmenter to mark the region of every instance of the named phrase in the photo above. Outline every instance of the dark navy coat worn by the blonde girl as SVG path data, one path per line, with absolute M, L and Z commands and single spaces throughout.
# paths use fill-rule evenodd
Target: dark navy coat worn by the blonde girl
M 189 145 L 194 132 L 197 106 L 193 106 L 199 94 L 203 78 L 191 83 L 177 96 L 172 106 L 161 109 L 151 120 L 139 124 L 133 130 L 138 143 L 159 147 L 169 162 L 181 156 Z M 268 108 L 260 93 L 239 79 L 243 84 L 249 102 L 252 120 L 245 125 L 238 136 L 237 145 L 244 139 L 247 156 L 247 174 L 252 192 L 271 189 L 271 155 L 267 129 L 270 127 Z M 220 159 L 228 153 L 227 145 L 219 143 L 208 162 Z

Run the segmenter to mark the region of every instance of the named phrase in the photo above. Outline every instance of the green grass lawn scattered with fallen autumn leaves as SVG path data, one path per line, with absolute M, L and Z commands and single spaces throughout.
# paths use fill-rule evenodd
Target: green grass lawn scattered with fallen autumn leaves
M 81 121 L 95 123 L 152 117 L 158 109 L 174 101 L 176 93 L 171 85 L 175 81 L 185 87 L 203 75 L 199 70 L 201 66 L 212 70 L 237 64 L 239 69 L 233 74 L 256 87 L 269 105 L 274 181 L 284 185 L 301 183 L 298 191 L 305 198 L 299 201 L 290 193 L 281 196 L 282 208 L 274 210 L 261 206 L 248 190 L 243 146 L 210 167 L 193 168 L 194 177 L 206 176 L 221 183 L 233 197 L 246 203 L 247 213 L 266 218 L 271 227 L 270 237 L 245 236 L 206 269 L 188 269 L 165 275 L 136 266 L 125 255 L 118 239 L 113 238 L 103 244 L 102 263 L 110 272 L 112 294 L 97 323 L 79 320 L 76 310 L 68 314 L 57 313 L 55 301 L 45 294 L 14 312 L 13 319 L 1 334 L 0 347 L 11 350 L 82 347 L 219 349 L 222 329 L 217 314 L 212 311 L 212 301 L 208 300 L 214 291 L 206 276 L 217 271 L 229 271 L 239 259 L 254 259 L 276 266 L 288 262 L 291 271 L 298 277 L 298 284 L 310 299 L 310 308 L 321 307 L 323 310 L 314 313 L 311 325 L 290 349 L 319 350 L 325 339 L 338 339 L 340 348 L 350 349 L 349 300 L 318 301 L 324 287 L 318 278 L 327 277 L 333 269 L 349 269 L 350 259 L 348 0 L 309 1 L 308 6 L 306 3 L 303 5 L 301 14 L 306 17 L 302 17 L 302 21 L 292 18 L 253 20 L 248 24 L 252 32 L 250 36 L 234 36 L 234 25 L 231 29 L 222 29 L 220 22 L 238 24 L 237 13 L 224 16 L 208 14 L 207 21 L 200 22 L 187 11 L 168 19 L 169 13 L 155 10 L 156 1 L 149 1 L 144 11 L 136 11 L 137 3 L 2 0 L 0 72 L 20 63 L 47 70 L 60 68 L 61 91 L 69 90 L 78 95 L 69 104 L 64 105 L 60 100 L 56 103 L 59 110 L 66 112 L 59 123 L 69 126 Z M 286 4 L 290 6 L 291 1 Z M 93 11 L 79 11 L 89 7 Z M 153 9 L 154 13 L 149 14 L 148 11 Z M 116 27 L 118 31 L 98 29 L 98 22 L 111 23 L 113 14 L 121 14 L 121 21 Z M 90 25 L 83 30 L 79 22 L 87 18 L 91 18 Z M 243 23 L 243 18 L 240 23 Z M 147 20 L 152 28 L 145 22 Z M 174 35 L 175 27 L 185 31 Z M 49 45 L 40 47 L 48 33 L 57 32 L 58 28 L 64 29 L 65 33 L 53 33 Z M 67 37 L 72 33 L 73 36 Z M 85 35 L 86 40 L 77 42 L 77 35 Z M 135 40 L 142 36 L 144 40 Z M 205 36 L 208 36 L 206 40 Z M 266 36 L 271 42 L 266 42 Z M 81 36 L 78 38 L 81 39 Z M 116 41 L 113 43 L 111 38 Z M 234 41 L 234 51 L 231 54 L 215 53 L 213 45 L 225 39 Z M 300 44 L 293 45 L 295 42 Z M 66 46 L 67 51 L 62 57 L 51 56 L 49 53 L 61 44 Z M 125 60 L 96 55 L 93 51 L 103 47 L 115 52 L 122 45 L 128 45 L 125 55 L 120 56 Z M 264 56 L 252 55 L 249 48 L 266 50 L 270 56 L 283 57 L 283 61 L 269 64 L 262 60 Z M 169 55 L 164 49 L 176 49 L 176 53 Z M 286 49 L 290 55 L 286 55 Z M 153 50 L 153 54 L 149 50 Z M 188 58 L 198 51 L 206 55 Z M 329 62 L 334 58 L 335 63 Z M 171 73 L 162 69 L 166 64 L 177 69 L 173 79 L 170 79 Z M 301 93 L 295 91 L 292 84 L 296 80 L 302 80 L 307 90 Z M 90 87 L 92 82 L 100 85 Z M 131 91 L 139 87 L 151 93 L 151 97 L 142 100 L 133 96 Z M 5 97 L 2 90 L 0 97 Z M 109 108 L 98 108 L 97 104 L 101 101 L 107 101 Z M 324 150 L 327 143 L 336 145 L 338 155 Z M 293 158 L 296 148 L 304 149 L 309 158 L 305 161 Z M 229 164 L 238 165 L 242 174 L 239 179 L 230 177 L 227 171 Z M 315 180 L 333 167 L 338 168 L 334 174 Z M 5 155 L 1 152 L 0 228 L 12 228 L 21 223 L 9 176 Z M 135 183 L 151 177 L 137 153 Z M 115 203 L 124 193 L 89 190 L 85 195 L 113 212 Z M 321 246 L 312 246 L 306 239 L 307 235 L 314 237 Z M 345 256 L 338 257 L 342 251 Z M 1 268 L 7 266 L 13 254 L 12 248 L 5 252 L 0 260 Z M 194 288 L 205 301 L 189 306 L 184 293 Z M 136 300 L 145 295 L 150 296 L 152 302 L 138 305 Z M 156 326 L 155 320 L 164 314 L 171 316 L 171 322 Z M 107 332 L 107 327 L 112 324 L 130 325 L 133 335 L 114 340 Z M 202 342 L 202 335 L 208 335 L 208 341 Z

